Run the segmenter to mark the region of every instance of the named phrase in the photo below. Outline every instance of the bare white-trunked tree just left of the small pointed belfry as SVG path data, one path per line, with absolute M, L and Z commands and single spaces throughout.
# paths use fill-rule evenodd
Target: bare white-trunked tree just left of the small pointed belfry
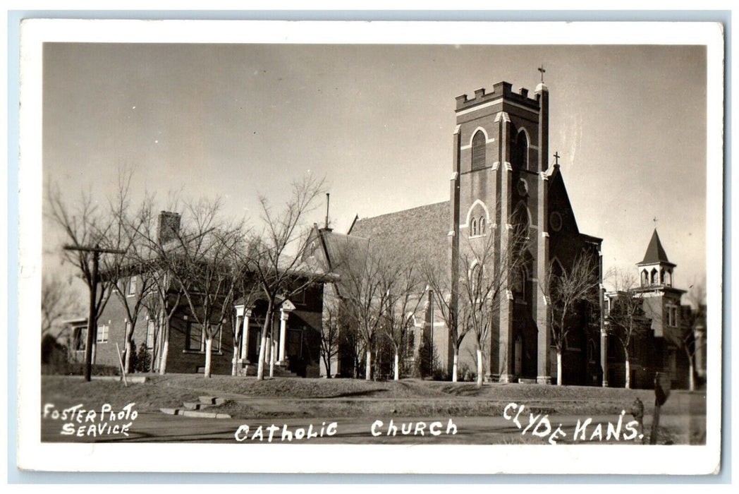
M 648 333 L 650 325 L 644 314 L 644 299 L 634 296 L 636 278 L 619 270 L 610 271 L 609 277 L 613 280 L 616 295 L 611 301 L 606 330 L 624 349 L 625 387 L 631 388 L 631 348 Z

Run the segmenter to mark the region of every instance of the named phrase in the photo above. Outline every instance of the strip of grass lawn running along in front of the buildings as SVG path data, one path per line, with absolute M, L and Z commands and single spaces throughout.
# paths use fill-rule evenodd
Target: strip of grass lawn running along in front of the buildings
M 477 388 L 466 382 L 420 379 L 372 382 L 358 379 L 254 378 L 196 374 L 148 375 L 144 384 L 84 382 L 78 377 L 42 376 L 44 403 L 58 405 L 110 403 L 122 407 L 135 402 L 137 410 L 182 407 L 198 396 L 228 399 L 214 410 L 234 418 L 301 416 L 494 416 L 510 402 L 524 403 L 542 413 L 598 415 L 630 412 L 636 398 L 647 415 L 653 407 L 651 390 L 522 384 L 490 384 Z M 662 408 L 664 415 L 705 416 L 705 395 L 674 391 Z

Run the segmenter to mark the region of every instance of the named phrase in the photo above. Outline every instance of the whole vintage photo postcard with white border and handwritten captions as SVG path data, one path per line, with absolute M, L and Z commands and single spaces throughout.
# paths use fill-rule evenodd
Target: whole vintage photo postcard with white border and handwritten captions
M 720 24 L 30 19 L 20 123 L 22 469 L 720 469 Z

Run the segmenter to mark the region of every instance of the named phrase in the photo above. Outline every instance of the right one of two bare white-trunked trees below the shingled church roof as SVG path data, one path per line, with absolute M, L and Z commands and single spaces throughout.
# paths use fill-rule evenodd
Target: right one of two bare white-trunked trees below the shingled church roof
M 382 327 L 393 350 L 393 375 L 400 379 L 401 354 L 406 351 L 408 334 L 413 316 L 423 301 L 423 285 L 415 263 L 390 263 L 384 271 L 381 291 L 386 294 L 384 323 Z

